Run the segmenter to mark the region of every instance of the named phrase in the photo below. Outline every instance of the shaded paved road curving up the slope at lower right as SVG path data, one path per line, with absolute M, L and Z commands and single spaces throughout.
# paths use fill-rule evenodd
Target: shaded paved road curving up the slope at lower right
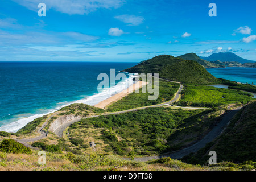
M 221 121 L 215 126 L 205 137 L 200 140 L 199 142 L 193 144 L 190 147 L 184 148 L 179 151 L 174 151 L 166 154 L 161 154 L 158 156 L 149 156 L 144 158 L 135 158 L 134 160 L 137 161 L 147 161 L 151 159 L 160 159 L 162 157 L 170 157 L 172 159 L 180 159 L 183 158 L 185 155 L 190 154 L 191 152 L 199 151 L 200 148 L 203 148 L 205 144 L 212 142 L 214 138 L 218 137 L 218 135 L 221 134 L 225 126 L 228 124 L 228 122 L 234 117 L 234 115 L 241 109 L 242 107 L 239 107 L 234 110 L 229 110 L 226 112 L 224 117 L 221 119 Z

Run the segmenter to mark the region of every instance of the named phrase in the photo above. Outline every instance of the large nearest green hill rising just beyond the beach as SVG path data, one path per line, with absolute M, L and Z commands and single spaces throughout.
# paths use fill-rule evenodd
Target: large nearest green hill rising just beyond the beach
M 160 78 L 185 84 L 210 84 L 218 81 L 197 61 L 184 60 L 170 55 L 156 56 L 124 71 L 130 73 L 159 73 Z

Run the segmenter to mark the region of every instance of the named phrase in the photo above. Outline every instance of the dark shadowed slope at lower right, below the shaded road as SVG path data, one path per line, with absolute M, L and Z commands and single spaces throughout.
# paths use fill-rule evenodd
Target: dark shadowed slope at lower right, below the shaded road
M 231 161 L 242 163 L 256 161 L 256 102 L 244 106 L 234 117 L 224 132 L 199 150 L 185 156 L 183 161 L 192 164 L 207 163 L 209 150 L 216 151 L 217 162 Z

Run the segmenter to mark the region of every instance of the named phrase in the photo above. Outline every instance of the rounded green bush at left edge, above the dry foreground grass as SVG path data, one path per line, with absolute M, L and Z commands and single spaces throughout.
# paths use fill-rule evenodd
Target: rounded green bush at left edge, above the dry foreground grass
M 14 154 L 31 154 L 32 151 L 30 148 L 24 146 L 23 144 L 16 142 L 13 139 L 4 139 L 0 143 L 0 151 L 6 153 L 14 153 Z

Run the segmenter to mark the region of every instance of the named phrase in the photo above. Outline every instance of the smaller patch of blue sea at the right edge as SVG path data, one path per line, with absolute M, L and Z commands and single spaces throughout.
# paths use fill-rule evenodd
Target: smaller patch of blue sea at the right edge
M 256 68 L 206 68 L 216 78 L 256 84 Z

